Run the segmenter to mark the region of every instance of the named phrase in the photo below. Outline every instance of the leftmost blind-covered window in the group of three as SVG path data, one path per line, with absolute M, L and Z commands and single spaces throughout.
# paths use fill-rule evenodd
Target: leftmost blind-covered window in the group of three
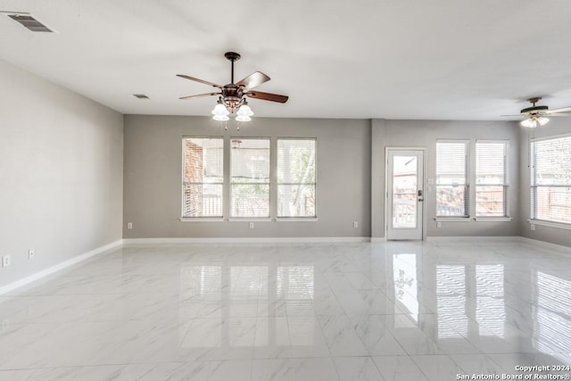
M 222 217 L 224 141 L 183 138 L 183 217 Z

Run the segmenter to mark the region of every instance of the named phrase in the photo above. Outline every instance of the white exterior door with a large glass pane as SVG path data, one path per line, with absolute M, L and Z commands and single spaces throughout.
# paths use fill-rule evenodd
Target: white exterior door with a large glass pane
M 424 150 L 387 149 L 386 238 L 422 239 Z

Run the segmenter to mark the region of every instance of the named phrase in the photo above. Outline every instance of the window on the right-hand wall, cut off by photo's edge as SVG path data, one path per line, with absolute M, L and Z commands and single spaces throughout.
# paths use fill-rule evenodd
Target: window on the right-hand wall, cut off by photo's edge
M 571 137 L 533 141 L 530 164 L 532 219 L 571 224 Z

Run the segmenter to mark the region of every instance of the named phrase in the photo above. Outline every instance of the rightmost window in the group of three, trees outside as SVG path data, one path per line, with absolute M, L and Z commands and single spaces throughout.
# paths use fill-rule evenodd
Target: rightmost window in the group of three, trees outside
M 277 139 L 277 217 L 315 217 L 315 139 Z

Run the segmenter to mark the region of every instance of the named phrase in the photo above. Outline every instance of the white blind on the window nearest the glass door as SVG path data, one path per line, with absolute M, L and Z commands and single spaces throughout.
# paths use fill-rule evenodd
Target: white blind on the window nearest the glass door
M 436 142 L 436 216 L 468 217 L 468 142 Z

